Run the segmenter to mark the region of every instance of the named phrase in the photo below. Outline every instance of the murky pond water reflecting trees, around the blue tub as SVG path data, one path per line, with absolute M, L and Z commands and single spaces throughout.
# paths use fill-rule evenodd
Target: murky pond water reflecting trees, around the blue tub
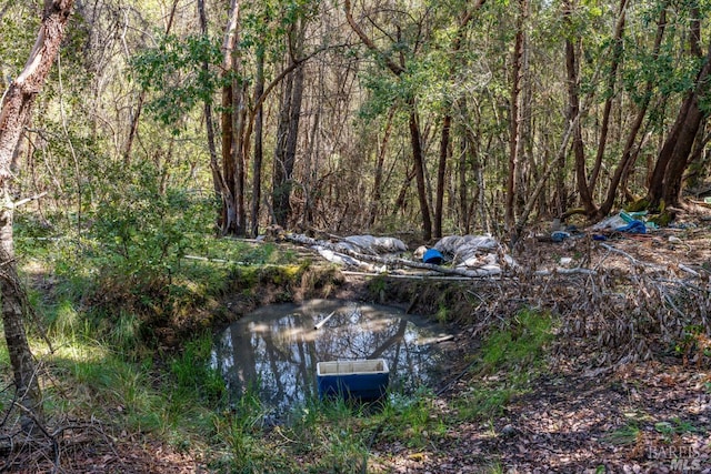
M 382 357 L 393 391 L 439 385 L 448 346 L 441 341 L 448 335 L 394 307 L 316 300 L 264 306 L 242 317 L 218 336 L 212 363 L 233 397 L 256 387 L 279 416 L 318 396 L 320 361 Z

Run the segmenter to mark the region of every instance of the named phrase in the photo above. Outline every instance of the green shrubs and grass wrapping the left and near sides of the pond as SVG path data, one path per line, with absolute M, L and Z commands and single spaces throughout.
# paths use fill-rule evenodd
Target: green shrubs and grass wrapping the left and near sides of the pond
M 163 440 L 202 453 L 219 472 L 379 473 L 388 470 L 373 454 L 378 443 L 424 452 L 462 420 L 490 422 L 543 367 L 552 319 L 525 310 L 484 341 L 470 389 L 451 402 L 453 410 L 442 411 L 441 397 L 423 387 L 391 393 L 374 406 L 307 400 L 288 423 L 271 425 L 258 387 L 233 400 L 210 364 L 211 330 L 227 320 L 223 299 L 257 304 L 328 295 L 338 272 L 314 272 L 270 243 L 206 238 L 202 214 L 183 212 L 186 195 L 153 203 L 150 193 L 129 192 L 137 193 L 136 206 L 107 200 L 89 229 L 59 235 L 19 225 L 37 310 L 30 339 L 52 420 L 98 420 L 112 436 Z M 455 313 L 438 309 L 442 321 Z M 10 373 L 4 347 L 0 366 Z M 0 393 L 3 413 L 11 395 Z

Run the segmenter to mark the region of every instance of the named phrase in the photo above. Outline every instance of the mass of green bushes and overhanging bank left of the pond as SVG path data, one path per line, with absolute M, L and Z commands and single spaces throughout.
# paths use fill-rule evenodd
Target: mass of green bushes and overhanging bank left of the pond
M 214 238 L 213 201 L 162 191 L 150 164 L 114 173 L 121 188 L 103 189 L 79 229 L 18 214 L 18 252 L 43 289 L 30 297 L 51 337 L 96 339 L 137 361 L 149 346 L 210 329 L 224 315 L 218 299 L 236 286 L 282 284 L 291 297 L 308 269 L 289 265 L 293 252 Z M 187 260 L 188 252 L 208 260 Z

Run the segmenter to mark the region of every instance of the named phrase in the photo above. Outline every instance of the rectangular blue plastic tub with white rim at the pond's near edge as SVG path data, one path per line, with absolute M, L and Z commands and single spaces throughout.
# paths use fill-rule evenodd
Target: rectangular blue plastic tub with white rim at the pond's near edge
M 390 370 L 384 359 L 319 362 L 317 380 L 321 399 L 374 401 L 385 394 Z

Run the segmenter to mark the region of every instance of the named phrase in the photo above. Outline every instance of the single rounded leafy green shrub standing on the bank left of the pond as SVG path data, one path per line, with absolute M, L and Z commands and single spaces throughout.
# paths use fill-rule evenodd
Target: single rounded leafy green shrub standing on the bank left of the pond
M 190 248 L 190 235 L 211 229 L 212 203 L 194 200 L 187 191 L 161 192 L 150 169 L 138 178 L 98 205 L 91 228 L 99 243 L 93 258 L 102 291 L 112 291 L 139 309 L 160 311 L 164 297 L 180 290 L 173 278 Z

